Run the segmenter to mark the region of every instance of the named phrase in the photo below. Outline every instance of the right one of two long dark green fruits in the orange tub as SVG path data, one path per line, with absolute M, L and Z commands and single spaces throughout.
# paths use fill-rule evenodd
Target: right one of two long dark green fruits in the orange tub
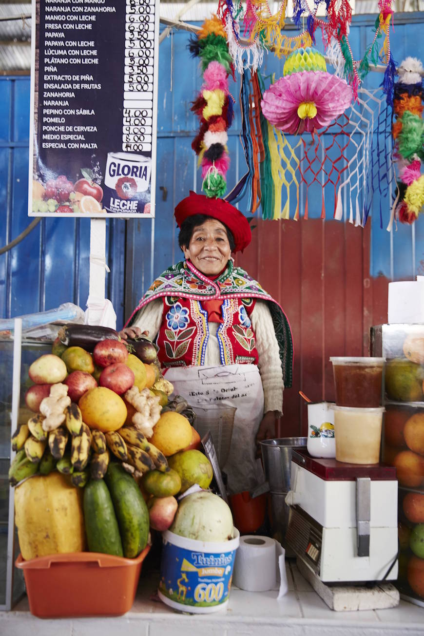
M 133 558 L 147 545 L 149 511 L 135 480 L 121 464 L 109 464 L 105 480 L 120 526 L 124 556 Z

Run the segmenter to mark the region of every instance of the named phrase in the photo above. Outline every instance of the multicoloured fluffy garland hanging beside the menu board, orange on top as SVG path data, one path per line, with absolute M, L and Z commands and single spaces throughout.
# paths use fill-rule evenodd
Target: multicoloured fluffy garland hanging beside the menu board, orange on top
M 200 130 L 191 144 L 202 166 L 202 190 L 207 197 L 222 197 L 226 192 L 229 167 L 227 129 L 233 120 L 233 98 L 228 91 L 228 76 L 233 74 L 228 53 L 227 34 L 216 16 L 205 20 L 189 50 L 200 57 L 203 84 L 191 110 L 200 119 Z

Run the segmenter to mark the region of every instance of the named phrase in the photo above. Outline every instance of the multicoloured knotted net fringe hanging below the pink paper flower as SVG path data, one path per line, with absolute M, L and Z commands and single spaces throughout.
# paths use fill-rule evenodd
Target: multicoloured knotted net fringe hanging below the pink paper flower
M 380 89 L 359 88 L 357 102 L 315 134 L 285 135 L 261 113 L 264 82 L 245 70 L 240 90 L 242 141 L 247 173 L 226 197 L 233 204 L 245 195 L 247 211 L 261 204 L 263 219 L 305 219 L 320 191 L 320 217 L 330 212 L 364 226 L 378 194 L 380 225 L 390 198 L 392 108 Z

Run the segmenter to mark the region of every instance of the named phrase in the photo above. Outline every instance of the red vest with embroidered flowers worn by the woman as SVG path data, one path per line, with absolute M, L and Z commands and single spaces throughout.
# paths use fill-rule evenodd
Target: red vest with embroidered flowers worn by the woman
M 221 364 L 257 364 L 250 322 L 255 302 L 253 298 L 222 301 L 222 322 L 216 333 Z M 156 338 L 162 366 L 203 366 L 208 340 L 208 314 L 201 301 L 163 297 L 163 319 Z

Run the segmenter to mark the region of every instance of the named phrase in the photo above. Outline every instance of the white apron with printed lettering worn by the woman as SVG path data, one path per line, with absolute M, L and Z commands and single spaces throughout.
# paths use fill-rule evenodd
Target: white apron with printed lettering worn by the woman
M 235 406 L 233 437 L 224 473 L 230 495 L 253 490 L 264 481 L 261 460 L 255 459 L 256 433 L 264 415 L 264 392 L 256 364 L 171 367 L 166 378 L 174 394 L 196 406 Z

